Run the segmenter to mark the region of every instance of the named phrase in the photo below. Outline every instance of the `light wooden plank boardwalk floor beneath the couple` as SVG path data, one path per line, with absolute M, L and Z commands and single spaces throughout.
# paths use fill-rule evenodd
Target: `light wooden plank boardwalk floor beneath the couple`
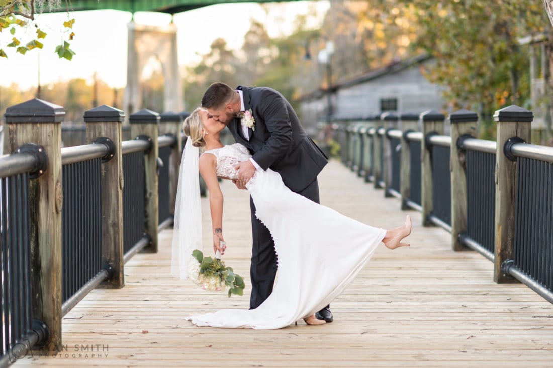
M 160 251 L 138 254 L 126 286 L 94 290 L 63 320 L 64 351 L 29 356 L 14 367 L 552 367 L 553 305 L 519 283 L 497 285 L 492 262 L 453 252 L 450 234 L 421 227 L 337 161 L 320 175 L 321 201 L 375 227 L 413 217 L 411 246 L 383 245 L 334 302 L 335 322 L 270 331 L 199 328 L 182 319 L 244 297 L 199 290 L 170 276 L 171 230 Z M 249 285 L 249 206 L 245 191 L 223 184 L 228 265 Z M 210 229 L 208 203 L 204 229 Z M 207 233 L 207 234 L 206 234 Z M 211 233 L 204 231 L 205 244 Z M 339 250 L 337 250 L 339 254 Z

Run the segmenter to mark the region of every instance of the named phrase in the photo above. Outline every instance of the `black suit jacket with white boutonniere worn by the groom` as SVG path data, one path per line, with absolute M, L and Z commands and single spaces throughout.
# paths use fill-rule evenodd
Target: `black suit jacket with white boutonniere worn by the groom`
M 263 170 L 278 172 L 284 184 L 294 192 L 312 183 L 328 157 L 301 127 L 290 103 L 267 87 L 239 86 L 246 111 L 252 109 L 255 129 L 249 129 L 249 141 L 242 133 L 241 120 L 228 125 L 234 139 L 246 146 Z

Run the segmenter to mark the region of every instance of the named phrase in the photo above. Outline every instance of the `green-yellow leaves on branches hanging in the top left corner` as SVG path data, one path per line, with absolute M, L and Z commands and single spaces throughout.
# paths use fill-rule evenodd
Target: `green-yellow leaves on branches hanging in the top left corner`
M 69 15 L 69 0 L 67 3 L 67 14 Z M 25 55 L 27 51 L 33 49 L 42 49 L 43 44 L 40 40 L 46 37 L 38 24 L 35 23 L 35 15 L 44 10 L 53 11 L 61 9 L 61 0 L 0 0 L 0 33 L 9 34 L 12 36 L 11 43 L 4 44 L 0 40 L 0 57 L 8 57 L 6 50 L 3 48 L 13 48 L 15 52 Z M 63 27 L 71 31 L 75 18 L 68 19 L 64 22 Z M 36 35 L 23 41 L 15 36 L 18 28 L 36 28 Z M 10 36 L 8 35 L 8 37 Z M 56 46 L 55 52 L 60 59 L 71 60 L 75 52 L 70 49 L 69 41 L 73 39 L 75 34 L 71 31 L 68 40 L 64 40 L 60 45 Z

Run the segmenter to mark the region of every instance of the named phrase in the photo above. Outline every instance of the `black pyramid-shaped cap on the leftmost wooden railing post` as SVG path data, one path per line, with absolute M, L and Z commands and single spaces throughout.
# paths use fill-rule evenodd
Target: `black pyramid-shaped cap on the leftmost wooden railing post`
M 7 124 L 14 123 L 61 123 L 65 118 L 64 108 L 38 98 L 30 99 L 6 109 Z

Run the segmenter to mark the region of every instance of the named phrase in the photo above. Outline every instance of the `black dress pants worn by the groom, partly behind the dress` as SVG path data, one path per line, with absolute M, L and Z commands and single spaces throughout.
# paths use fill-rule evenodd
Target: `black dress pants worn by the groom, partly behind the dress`
M 304 190 L 297 192 L 311 201 L 320 203 L 319 182 L 315 179 Z M 250 277 L 252 280 L 252 294 L 249 299 L 249 308 L 254 309 L 263 303 L 273 292 L 276 277 L 276 252 L 269 230 L 255 217 L 255 205 L 249 197 L 249 206 L 252 211 L 252 266 Z

